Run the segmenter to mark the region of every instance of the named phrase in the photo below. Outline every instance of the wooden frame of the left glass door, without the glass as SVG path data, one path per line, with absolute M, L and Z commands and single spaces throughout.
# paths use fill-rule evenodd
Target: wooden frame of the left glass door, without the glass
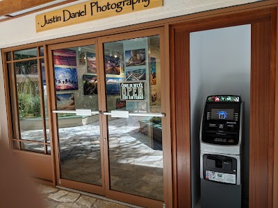
M 97 46 L 97 39 L 87 39 L 87 40 L 78 40 L 74 42 L 65 42 L 61 44 L 53 44 L 48 46 L 48 60 L 49 60 L 49 83 L 50 83 L 50 97 L 51 97 L 51 104 L 49 105 L 51 107 L 51 113 L 49 114 L 51 116 L 52 121 L 52 144 L 54 144 L 54 152 L 56 153 L 54 155 L 55 160 L 55 169 L 56 169 L 56 182 L 58 185 L 63 183 L 64 187 L 72 188 L 72 189 L 80 189 L 81 191 L 88 191 L 91 193 L 97 193 L 100 195 L 105 195 L 105 183 L 104 183 L 104 150 L 102 148 L 103 146 L 103 135 L 101 134 L 100 129 L 100 153 L 101 153 L 101 179 L 102 179 L 102 186 L 97 186 L 94 184 L 86 184 L 83 182 L 76 182 L 72 180 L 65 180 L 60 178 L 60 157 L 59 157 L 59 142 L 58 142 L 58 119 L 57 115 L 52 113 L 52 110 L 56 109 L 56 99 L 54 96 L 56 95 L 56 89 L 55 89 L 55 76 L 54 76 L 54 62 L 53 62 L 53 55 L 52 51 L 56 49 L 68 49 L 71 47 L 78 47 L 78 46 L 88 46 L 88 45 L 95 45 L 95 51 L 96 55 L 98 54 L 98 46 Z M 99 69 L 98 63 L 97 63 L 97 69 Z M 97 77 L 99 77 L 99 70 L 97 70 Z M 98 87 L 98 96 L 99 98 L 101 95 L 100 88 Z M 100 100 L 100 99 L 99 99 Z M 98 102 L 98 109 L 100 109 L 101 103 Z M 99 114 L 99 123 L 101 123 L 101 115 Z M 101 128 L 101 127 L 100 127 Z M 60 182 L 59 182 L 60 180 Z

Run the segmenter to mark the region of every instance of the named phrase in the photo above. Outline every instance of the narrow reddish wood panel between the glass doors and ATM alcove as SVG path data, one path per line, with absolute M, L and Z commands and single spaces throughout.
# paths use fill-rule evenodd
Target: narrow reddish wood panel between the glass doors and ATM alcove
M 191 207 L 189 33 L 174 37 L 177 206 Z

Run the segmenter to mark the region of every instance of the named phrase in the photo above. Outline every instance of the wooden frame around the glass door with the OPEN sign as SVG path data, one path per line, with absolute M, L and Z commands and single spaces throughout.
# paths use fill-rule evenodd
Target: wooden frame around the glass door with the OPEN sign
M 166 29 L 164 27 L 158 27 L 158 28 L 152 28 L 152 29 L 146 29 L 143 31 L 133 31 L 129 33 L 123 33 L 123 34 L 117 34 L 117 35 L 107 35 L 104 37 L 98 38 L 99 43 L 99 67 L 101 71 L 101 77 L 104 77 L 104 57 L 101 55 L 104 53 L 104 47 L 101 46 L 101 44 L 104 44 L 106 42 L 114 42 L 114 41 L 120 41 L 120 40 L 127 40 L 132 38 L 138 38 L 138 37 L 148 37 L 153 35 L 160 35 L 160 46 L 161 46 L 161 112 L 164 112 L 167 116 L 165 117 L 165 122 L 162 123 L 162 129 L 163 129 L 163 184 L 164 187 L 164 202 L 160 202 L 158 200 L 152 200 L 149 198 L 142 198 L 140 196 L 133 196 L 129 193 L 120 193 L 118 191 L 113 191 L 110 189 L 110 182 L 109 178 L 106 177 L 106 196 L 108 198 L 112 198 L 115 200 L 120 200 L 123 202 L 128 202 L 130 204 L 134 204 L 134 202 L 137 202 L 138 205 L 143 207 L 154 207 L 154 208 L 160 208 L 163 206 L 163 203 L 165 203 L 166 207 L 172 207 L 172 161 L 171 161 L 171 137 L 170 137 L 170 99 L 167 98 L 169 94 L 167 92 L 170 91 L 170 80 L 167 79 L 170 75 L 170 71 L 167 70 L 168 68 L 165 65 L 166 59 L 165 59 L 165 48 L 167 47 L 167 44 L 165 43 L 165 31 Z M 106 89 L 104 79 L 101 79 L 101 90 Z M 163 93 L 164 92 L 164 93 Z M 101 92 L 105 94 L 105 92 Z M 103 97 L 101 100 L 102 103 L 102 112 L 106 112 L 107 106 L 106 106 L 106 97 Z M 108 130 L 108 120 L 107 116 L 103 115 L 102 118 L 103 125 L 104 125 L 104 132 L 103 135 L 105 138 L 108 138 L 107 130 Z M 106 160 L 106 164 L 108 164 L 108 139 L 104 141 L 104 153 L 107 153 L 104 156 L 104 159 Z M 109 168 L 108 166 L 105 167 L 106 175 L 109 174 Z

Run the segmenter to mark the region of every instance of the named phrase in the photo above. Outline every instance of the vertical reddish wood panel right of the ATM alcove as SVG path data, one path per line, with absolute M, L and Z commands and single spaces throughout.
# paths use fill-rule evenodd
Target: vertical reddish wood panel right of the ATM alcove
M 270 26 L 264 21 L 251 29 L 250 207 L 272 207 L 275 76 L 270 73 Z

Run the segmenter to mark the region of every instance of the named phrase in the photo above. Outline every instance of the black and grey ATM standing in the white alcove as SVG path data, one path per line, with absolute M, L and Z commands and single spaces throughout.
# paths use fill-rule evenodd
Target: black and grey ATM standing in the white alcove
M 240 96 L 208 96 L 200 128 L 202 208 L 242 205 L 244 103 Z

